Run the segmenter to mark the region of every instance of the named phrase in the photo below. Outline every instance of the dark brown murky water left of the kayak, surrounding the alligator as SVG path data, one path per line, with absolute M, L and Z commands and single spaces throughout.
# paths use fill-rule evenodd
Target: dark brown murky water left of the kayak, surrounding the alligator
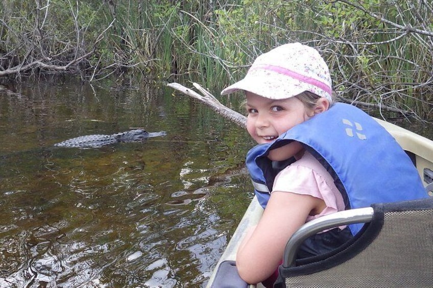
M 204 286 L 252 196 L 244 130 L 146 83 L 9 88 L 0 91 L 0 286 Z M 53 147 L 130 127 L 167 135 Z

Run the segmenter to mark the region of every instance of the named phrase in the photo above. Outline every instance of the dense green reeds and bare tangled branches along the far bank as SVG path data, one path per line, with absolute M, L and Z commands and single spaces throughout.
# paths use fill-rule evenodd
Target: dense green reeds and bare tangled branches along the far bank
M 341 99 L 431 118 L 431 1 L 5 0 L 1 75 L 188 74 L 221 89 L 262 51 L 301 41 L 329 63 Z

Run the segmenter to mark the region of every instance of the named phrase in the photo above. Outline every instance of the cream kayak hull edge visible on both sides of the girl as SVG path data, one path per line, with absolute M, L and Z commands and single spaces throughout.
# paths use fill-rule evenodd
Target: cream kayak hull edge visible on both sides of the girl
M 420 174 L 421 179 L 423 179 L 424 186 L 426 186 L 427 184 L 426 182 L 424 182 L 424 168 L 433 170 L 433 141 L 395 124 L 377 118 L 374 119 L 385 129 L 388 130 L 388 132 L 396 139 L 396 141 L 405 151 L 412 152 L 415 155 L 418 173 Z M 252 186 L 251 189 L 253 189 Z M 210 288 L 212 286 L 212 283 L 214 282 L 216 276 L 216 272 L 218 271 L 218 268 L 223 261 L 234 261 L 236 259 L 236 251 L 239 247 L 240 242 L 244 238 L 244 235 L 247 233 L 247 231 L 258 223 L 262 213 L 263 208 L 260 206 L 256 197 L 254 196 L 250 205 L 247 208 L 247 211 L 245 212 L 243 218 L 239 222 L 239 225 L 234 231 L 232 238 L 227 244 L 225 251 L 221 255 L 218 263 L 216 264 L 213 273 L 206 285 L 206 288 Z M 263 287 L 263 285 L 261 285 L 260 283 L 257 285 L 249 285 L 249 288 L 254 287 L 260 288 Z

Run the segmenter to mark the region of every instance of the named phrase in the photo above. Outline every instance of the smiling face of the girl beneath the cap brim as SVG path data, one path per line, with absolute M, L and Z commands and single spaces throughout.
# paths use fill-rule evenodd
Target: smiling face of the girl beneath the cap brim
M 282 133 L 297 124 L 308 120 L 312 111 L 296 97 L 287 99 L 268 99 L 246 91 L 247 130 L 258 143 L 274 141 Z

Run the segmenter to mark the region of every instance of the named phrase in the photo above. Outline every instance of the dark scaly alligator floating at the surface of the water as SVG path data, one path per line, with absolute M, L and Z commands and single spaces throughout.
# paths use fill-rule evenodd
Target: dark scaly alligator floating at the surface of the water
M 54 144 L 58 147 L 99 148 L 117 142 L 139 142 L 151 137 L 164 136 L 164 131 L 147 132 L 144 129 L 134 129 L 112 135 L 86 135 Z

